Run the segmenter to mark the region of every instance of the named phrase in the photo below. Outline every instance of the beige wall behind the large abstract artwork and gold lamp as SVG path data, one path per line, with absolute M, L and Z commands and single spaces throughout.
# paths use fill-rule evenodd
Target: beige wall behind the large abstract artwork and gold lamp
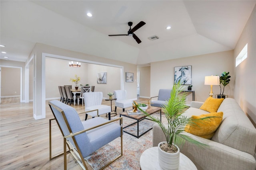
M 174 84 L 174 67 L 192 66 L 192 90 L 195 100 L 204 102 L 209 97 L 210 86 L 204 85 L 204 77 L 220 75 L 223 71 L 230 72 L 230 84 L 225 87 L 225 93 L 234 98 L 234 62 L 233 51 L 224 51 L 206 55 L 198 55 L 181 59 L 173 59 L 151 63 L 150 96 L 158 96 L 161 88 L 170 89 Z M 219 86 L 213 86 L 214 94 L 220 93 Z

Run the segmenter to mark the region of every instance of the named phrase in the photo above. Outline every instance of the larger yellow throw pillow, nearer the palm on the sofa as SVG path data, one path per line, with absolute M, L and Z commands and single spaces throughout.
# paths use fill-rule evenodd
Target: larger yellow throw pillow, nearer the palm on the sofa
M 211 139 L 214 132 L 222 122 L 223 112 L 208 113 L 199 116 L 192 116 L 192 119 L 200 119 L 208 116 L 216 116 L 204 120 L 194 120 L 192 124 L 186 125 L 185 131 L 205 139 Z

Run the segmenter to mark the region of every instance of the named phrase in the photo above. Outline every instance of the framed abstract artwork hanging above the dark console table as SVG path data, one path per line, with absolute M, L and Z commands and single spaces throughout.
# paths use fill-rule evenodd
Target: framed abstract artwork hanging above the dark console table
M 174 67 L 174 83 L 191 85 L 191 66 Z

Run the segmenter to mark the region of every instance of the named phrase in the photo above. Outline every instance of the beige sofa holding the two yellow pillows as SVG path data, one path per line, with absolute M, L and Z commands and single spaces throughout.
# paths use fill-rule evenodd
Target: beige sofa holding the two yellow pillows
M 202 109 L 203 102 L 191 102 L 190 108 L 184 113 L 186 116 L 208 113 Z M 180 151 L 188 156 L 198 170 L 255 170 L 256 160 L 256 129 L 242 111 L 237 102 L 226 98 L 218 108 L 223 112 L 223 120 L 211 140 L 204 139 L 190 133 L 190 137 L 207 144 L 207 148 L 199 148 L 186 142 Z M 166 141 L 160 127 L 153 126 L 153 147 Z

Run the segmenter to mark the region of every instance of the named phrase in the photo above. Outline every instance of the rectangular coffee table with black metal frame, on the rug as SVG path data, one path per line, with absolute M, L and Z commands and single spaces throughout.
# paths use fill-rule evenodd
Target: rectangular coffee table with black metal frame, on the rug
M 152 114 L 157 113 L 159 111 L 160 111 L 160 121 L 162 121 L 162 116 L 161 116 L 162 109 L 160 107 L 150 106 L 148 109 L 146 109 L 146 112 L 149 115 L 152 115 Z M 137 115 L 128 115 L 127 111 L 124 111 L 124 112 L 120 113 L 120 117 L 121 116 L 128 117 L 130 119 L 136 120 L 135 122 L 133 122 L 133 123 L 123 127 L 123 131 L 125 133 L 128 133 L 129 135 L 132 135 L 132 136 L 134 136 L 136 138 L 140 138 L 142 135 L 144 135 L 145 133 L 147 133 L 148 131 L 150 131 L 153 128 L 153 127 L 151 127 L 150 129 L 147 129 L 146 131 L 144 131 L 142 134 L 139 135 L 139 123 L 140 123 L 140 121 L 142 121 L 144 119 L 147 119 L 147 116 L 144 115 L 143 112 L 141 114 L 137 114 Z M 134 135 L 134 134 L 124 130 L 125 128 L 130 127 L 131 125 L 134 125 L 136 123 L 137 123 L 137 135 Z

